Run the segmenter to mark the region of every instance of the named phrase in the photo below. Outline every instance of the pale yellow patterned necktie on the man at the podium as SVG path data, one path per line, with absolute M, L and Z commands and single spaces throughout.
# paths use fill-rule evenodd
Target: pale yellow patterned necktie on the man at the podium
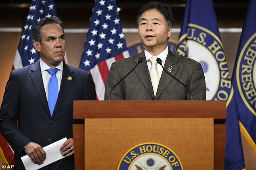
M 156 64 L 157 64 L 156 59 L 157 58 L 158 57 L 150 57 L 149 58 L 149 62 L 151 62 L 151 68 L 149 70 L 149 74 L 150 74 L 154 94 L 156 94 L 157 87 L 158 87 L 158 84 L 159 84 L 159 74 L 158 74 L 158 70 L 157 70 L 157 67 L 156 67 Z

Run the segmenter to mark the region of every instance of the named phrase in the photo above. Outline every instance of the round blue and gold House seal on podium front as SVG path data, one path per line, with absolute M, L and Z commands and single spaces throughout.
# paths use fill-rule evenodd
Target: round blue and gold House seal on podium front
M 159 143 L 141 143 L 121 159 L 118 170 L 183 170 L 178 156 Z

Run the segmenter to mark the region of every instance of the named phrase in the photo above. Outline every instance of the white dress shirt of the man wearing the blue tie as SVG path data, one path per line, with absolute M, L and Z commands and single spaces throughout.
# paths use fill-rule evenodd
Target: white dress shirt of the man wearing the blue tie
M 40 68 L 41 68 L 41 73 L 42 73 L 42 79 L 43 79 L 43 83 L 44 83 L 44 90 L 45 90 L 46 98 L 48 100 L 48 83 L 49 83 L 51 75 L 46 70 L 48 70 L 50 67 L 44 61 L 42 61 L 41 58 L 40 58 L 39 62 L 40 62 Z M 62 78 L 62 73 L 63 73 L 63 61 L 61 61 L 61 63 L 59 63 L 59 65 L 55 68 L 59 69 L 57 71 L 57 73 L 55 74 L 58 79 L 58 90 L 59 90 L 61 87 L 61 78 Z

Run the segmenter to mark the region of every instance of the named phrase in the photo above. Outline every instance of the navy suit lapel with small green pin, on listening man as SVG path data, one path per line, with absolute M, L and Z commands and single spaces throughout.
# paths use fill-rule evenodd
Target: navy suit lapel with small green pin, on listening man
M 59 91 L 59 96 L 58 96 L 57 102 L 55 104 L 55 108 L 54 108 L 52 116 L 55 115 L 55 113 L 57 112 L 57 110 L 59 109 L 59 107 L 61 106 L 63 101 L 65 100 L 65 98 L 69 92 L 69 89 L 73 83 L 74 78 L 75 78 L 75 75 L 73 74 L 73 72 L 68 68 L 67 64 L 65 64 L 63 62 L 61 88 Z

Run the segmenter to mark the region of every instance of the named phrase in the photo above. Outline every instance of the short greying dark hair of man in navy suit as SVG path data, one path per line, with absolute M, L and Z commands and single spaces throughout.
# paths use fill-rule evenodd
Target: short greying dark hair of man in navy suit
M 57 16 L 45 17 L 41 19 L 32 30 L 32 37 L 34 41 L 42 42 L 42 27 L 48 24 L 60 25 L 64 33 L 63 23 Z

